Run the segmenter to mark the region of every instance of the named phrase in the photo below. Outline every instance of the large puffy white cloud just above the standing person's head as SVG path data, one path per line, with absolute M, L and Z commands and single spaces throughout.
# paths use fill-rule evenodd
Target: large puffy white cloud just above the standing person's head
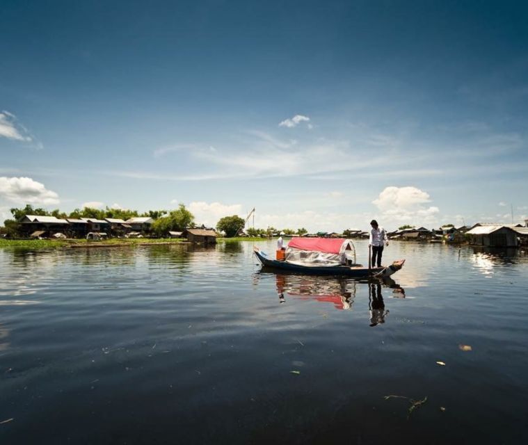
M 438 207 L 426 207 L 430 202 L 429 193 L 416 187 L 386 187 L 372 203 L 380 209 L 386 223 L 410 223 L 413 225 L 434 225 L 438 223 Z

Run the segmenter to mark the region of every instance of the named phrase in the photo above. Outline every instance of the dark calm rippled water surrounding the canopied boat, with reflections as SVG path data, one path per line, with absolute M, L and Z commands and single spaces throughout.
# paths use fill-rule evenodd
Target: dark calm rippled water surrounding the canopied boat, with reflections
M 0 250 L 0 443 L 526 442 L 523 252 L 392 243 L 377 284 L 252 248 Z

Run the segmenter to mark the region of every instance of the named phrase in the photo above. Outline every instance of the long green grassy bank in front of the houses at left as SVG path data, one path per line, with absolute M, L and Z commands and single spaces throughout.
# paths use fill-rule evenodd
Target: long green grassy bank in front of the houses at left
M 174 238 L 111 238 L 103 241 L 88 241 L 86 239 L 0 239 L 0 248 L 24 249 L 58 249 L 102 246 L 134 246 L 149 244 L 178 244 L 186 240 Z

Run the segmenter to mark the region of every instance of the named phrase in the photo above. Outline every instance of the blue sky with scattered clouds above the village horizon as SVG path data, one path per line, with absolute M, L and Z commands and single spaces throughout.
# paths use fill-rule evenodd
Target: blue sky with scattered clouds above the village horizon
M 528 218 L 522 1 L 17 1 L 0 221 L 26 203 L 310 232 Z M 253 223 L 253 220 L 251 220 Z

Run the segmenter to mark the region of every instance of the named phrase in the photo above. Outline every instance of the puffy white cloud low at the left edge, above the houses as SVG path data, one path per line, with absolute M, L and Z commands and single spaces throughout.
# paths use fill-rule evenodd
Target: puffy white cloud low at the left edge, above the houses
M 21 204 L 58 204 L 58 195 L 28 177 L 0 177 L 0 197 Z

